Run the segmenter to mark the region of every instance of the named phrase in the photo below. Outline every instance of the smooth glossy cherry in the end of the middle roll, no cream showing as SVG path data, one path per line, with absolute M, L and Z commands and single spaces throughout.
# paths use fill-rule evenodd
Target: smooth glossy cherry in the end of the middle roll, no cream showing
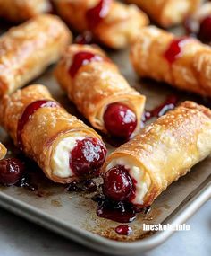
M 137 127 L 137 118 L 128 106 L 112 103 L 105 110 L 104 123 L 112 136 L 130 138 Z

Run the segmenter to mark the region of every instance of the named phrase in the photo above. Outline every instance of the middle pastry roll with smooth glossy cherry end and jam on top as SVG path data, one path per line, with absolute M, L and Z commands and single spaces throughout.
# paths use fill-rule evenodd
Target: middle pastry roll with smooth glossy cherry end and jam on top
M 145 96 L 131 88 L 101 49 L 71 45 L 55 76 L 94 128 L 124 138 L 139 131 Z

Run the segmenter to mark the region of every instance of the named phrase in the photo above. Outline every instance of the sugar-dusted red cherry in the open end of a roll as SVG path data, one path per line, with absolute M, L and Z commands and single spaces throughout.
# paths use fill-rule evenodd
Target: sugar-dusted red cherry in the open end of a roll
M 70 154 L 70 167 L 77 176 L 97 176 L 105 162 L 105 145 L 95 137 L 78 140 Z

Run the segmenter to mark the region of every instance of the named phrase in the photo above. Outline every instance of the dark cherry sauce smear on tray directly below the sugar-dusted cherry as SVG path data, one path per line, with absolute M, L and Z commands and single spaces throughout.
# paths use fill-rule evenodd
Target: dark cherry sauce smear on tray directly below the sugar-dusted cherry
M 66 189 L 68 192 L 96 192 L 97 184 L 94 180 L 87 181 L 72 181 Z

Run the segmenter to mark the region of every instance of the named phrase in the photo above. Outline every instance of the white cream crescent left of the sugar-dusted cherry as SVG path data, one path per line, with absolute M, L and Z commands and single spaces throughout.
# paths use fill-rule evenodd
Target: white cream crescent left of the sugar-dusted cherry
M 77 140 L 83 140 L 85 137 L 65 137 L 55 147 L 52 156 L 52 172 L 55 176 L 67 178 L 74 175 L 70 166 L 70 153 L 76 146 Z

